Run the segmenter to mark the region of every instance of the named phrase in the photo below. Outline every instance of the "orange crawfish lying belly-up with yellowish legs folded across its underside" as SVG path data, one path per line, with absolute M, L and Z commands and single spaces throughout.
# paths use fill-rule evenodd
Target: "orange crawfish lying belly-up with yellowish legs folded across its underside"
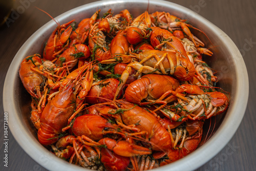
M 123 88 L 129 75 L 131 75 L 132 68 L 137 70 L 140 75 L 142 73 L 171 74 L 183 81 L 190 80 L 195 75 L 193 63 L 186 58 L 178 57 L 176 53 L 159 50 L 144 50 L 138 55 L 134 54 L 134 57 L 139 59 L 140 62 L 131 62 L 126 66 L 120 77 L 122 81 L 117 88 L 115 97 Z M 107 62 L 109 62 L 109 60 L 107 60 Z M 140 78 L 139 75 L 138 78 Z

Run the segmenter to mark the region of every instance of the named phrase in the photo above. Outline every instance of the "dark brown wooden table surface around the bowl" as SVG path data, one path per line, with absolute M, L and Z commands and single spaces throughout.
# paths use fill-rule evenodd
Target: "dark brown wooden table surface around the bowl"
M 22 3 L 24 2 L 24 3 Z M 4 109 L 3 86 L 9 65 L 24 42 L 50 18 L 34 8 L 46 10 L 53 17 L 83 4 L 83 1 L 16 1 L 14 16 L 9 26 L 0 29 L 0 170 L 46 170 L 31 159 L 9 132 L 8 168 L 4 167 Z M 222 151 L 197 170 L 255 170 L 256 169 L 256 1 L 254 0 L 173 0 L 199 13 L 222 29 L 237 45 L 244 58 L 250 83 L 250 94 L 245 116 L 239 129 Z M 22 8 L 23 7 L 23 8 Z M 2 17 L 2 16 L 1 16 Z M 2 18 L 0 18 L 2 19 Z

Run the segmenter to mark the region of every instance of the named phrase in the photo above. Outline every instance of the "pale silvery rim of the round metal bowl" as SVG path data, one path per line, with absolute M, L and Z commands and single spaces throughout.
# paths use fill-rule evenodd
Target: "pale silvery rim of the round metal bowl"
M 142 3 L 147 4 L 147 0 L 132 0 L 129 1 L 129 3 Z M 111 5 L 111 4 L 117 4 L 117 3 L 127 3 L 125 1 L 100 1 L 100 2 L 93 2 L 89 4 L 85 4 L 79 7 L 76 7 L 72 10 L 69 10 L 57 17 L 59 22 L 65 20 L 67 16 L 70 16 L 70 14 L 76 14 L 80 11 L 84 11 L 86 9 L 95 8 L 97 9 L 98 5 Z M 234 42 L 228 37 L 226 33 L 224 33 L 221 29 L 219 29 L 214 24 L 210 23 L 207 19 L 199 15 L 198 13 L 183 7 L 181 5 L 167 2 L 167 1 L 150 1 L 151 5 L 159 5 L 159 6 L 165 6 L 166 4 L 172 6 L 173 8 L 177 8 L 179 11 L 187 14 L 192 15 L 193 17 L 196 17 L 200 19 L 202 22 L 204 22 L 208 27 L 211 27 L 211 30 L 214 30 L 214 32 L 217 35 L 221 35 L 221 40 L 225 41 L 227 45 L 229 45 L 229 53 L 234 54 L 232 58 L 234 58 L 234 67 L 237 67 L 237 75 L 236 78 L 239 78 L 240 81 L 236 81 L 236 88 L 239 91 L 236 95 L 234 95 L 234 106 L 237 106 L 236 110 L 234 108 L 229 109 L 229 113 L 232 113 L 232 116 L 225 116 L 222 124 L 220 125 L 217 132 L 208 140 L 205 142 L 203 146 L 198 148 L 195 152 L 189 154 L 185 158 L 182 158 L 174 163 L 170 163 L 165 166 L 161 166 L 160 168 L 156 168 L 155 170 L 169 170 L 172 168 L 172 170 L 195 170 L 198 167 L 202 166 L 206 162 L 208 162 L 211 158 L 216 156 L 221 149 L 223 149 L 226 144 L 230 141 L 230 139 L 233 137 L 234 133 L 237 131 L 243 116 L 245 114 L 248 96 L 249 96 L 249 81 L 248 81 L 248 74 L 247 69 L 245 66 L 245 62 L 243 60 L 243 57 L 238 50 L 237 46 L 234 44 Z M 22 61 L 22 59 L 19 59 L 19 56 L 24 56 L 25 53 L 28 51 L 27 47 L 30 47 L 33 41 L 35 41 L 39 36 L 40 33 L 43 33 L 44 30 L 48 30 L 50 28 L 54 28 L 56 26 L 56 23 L 53 20 L 50 20 L 47 24 L 39 28 L 34 34 L 32 34 L 28 40 L 24 43 L 24 45 L 18 50 L 15 57 L 13 58 L 11 65 L 8 69 L 5 83 L 4 83 L 4 89 L 3 89 L 3 106 L 4 111 L 7 112 L 9 115 L 9 127 L 10 131 L 13 135 L 13 137 L 16 139 L 18 144 L 24 149 L 24 151 L 37 163 L 39 163 L 41 166 L 49 169 L 49 170 L 59 170 L 59 169 L 65 169 L 65 170 L 84 170 L 85 168 L 76 166 L 74 164 L 70 164 L 66 161 L 63 161 L 54 155 L 52 155 L 44 146 L 40 145 L 39 143 L 33 143 L 29 147 L 28 144 L 31 144 L 31 142 L 34 142 L 36 139 L 31 137 L 33 136 L 31 133 L 28 133 L 26 131 L 26 126 L 22 123 L 21 120 L 15 120 L 18 116 L 18 110 L 13 107 L 13 103 L 15 104 L 15 78 L 18 76 L 18 69 L 19 69 L 19 63 Z M 15 72 L 16 74 L 13 74 Z M 12 78 L 12 79 L 11 79 Z M 15 106 L 15 105 L 14 105 Z M 233 117 L 235 119 L 233 119 Z M 225 124 L 226 123 L 226 124 Z M 225 125 L 225 127 L 224 127 Z M 223 131 L 224 130 L 224 131 Z M 23 135 L 23 136 L 20 136 Z M 38 156 L 40 154 L 41 156 Z M 209 155 L 211 154 L 211 155 Z

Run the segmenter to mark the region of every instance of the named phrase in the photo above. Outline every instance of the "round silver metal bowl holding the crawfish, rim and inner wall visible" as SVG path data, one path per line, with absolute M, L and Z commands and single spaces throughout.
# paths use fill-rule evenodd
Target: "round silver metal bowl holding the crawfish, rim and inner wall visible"
M 97 9 L 101 9 L 102 12 L 112 9 L 116 13 L 123 9 L 128 9 L 136 17 L 147 10 L 148 6 L 149 13 L 165 11 L 187 19 L 191 25 L 199 28 L 209 37 L 211 43 L 204 34 L 197 31 L 194 32 L 196 36 L 206 42 L 206 47 L 217 46 L 211 49 L 214 55 L 206 60 L 211 68 L 218 71 L 217 76 L 220 81 L 217 86 L 230 93 L 229 108 L 225 115 L 216 118 L 217 122 L 212 130 L 212 136 L 209 139 L 207 138 L 208 140 L 202 143 L 195 152 L 174 163 L 155 169 L 194 170 L 217 155 L 237 131 L 248 101 L 247 70 L 242 55 L 233 41 L 208 20 L 194 11 L 174 3 L 165 1 L 149 2 L 148 6 L 147 0 L 99 1 L 77 7 L 59 15 L 55 19 L 61 24 L 72 19 L 76 19 L 76 22 L 79 22 L 83 18 L 91 17 Z M 20 62 L 29 55 L 41 52 L 41 47 L 45 43 L 44 40 L 48 39 L 55 28 L 56 23 L 51 20 L 37 30 L 15 55 L 5 79 L 4 110 L 10 114 L 9 127 L 14 138 L 24 151 L 41 166 L 49 170 L 87 170 L 57 158 L 38 142 L 36 131 L 28 119 L 31 98 L 24 89 L 18 75 Z M 203 142 L 204 139 L 205 137 L 203 137 Z

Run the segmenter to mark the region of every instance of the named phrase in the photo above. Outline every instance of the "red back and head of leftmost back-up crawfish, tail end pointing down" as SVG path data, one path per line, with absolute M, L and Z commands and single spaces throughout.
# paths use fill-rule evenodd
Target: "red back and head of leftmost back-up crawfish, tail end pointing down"
M 70 84 L 59 92 L 42 111 L 38 140 L 42 145 L 50 145 L 58 140 L 58 134 L 67 126 L 69 117 L 74 113 L 76 93 Z

